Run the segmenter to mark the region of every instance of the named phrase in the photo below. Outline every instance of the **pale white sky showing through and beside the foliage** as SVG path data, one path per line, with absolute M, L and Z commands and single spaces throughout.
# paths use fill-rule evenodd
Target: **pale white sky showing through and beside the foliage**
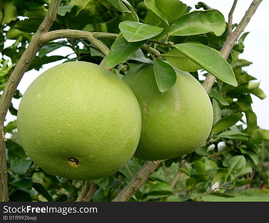
M 188 0 L 182 2 L 188 4 L 193 9 L 195 9 L 194 5 L 197 4 L 197 0 Z M 228 13 L 233 4 L 233 0 L 205 0 L 204 1 L 211 8 L 218 9 L 221 13 L 223 13 L 226 21 L 228 21 Z M 233 23 L 239 23 L 241 18 L 244 16 L 245 11 L 248 9 L 252 0 L 238 0 L 237 6 L 233 15 Z M 263 0 L 256 10 L 256 13 L 252 16 L 249 24 L 245 28 L 244 32 L 250 31 L 249 35 L 245 38 L 244 41 L 244 53 L 241 54 L 241 59 L 249 60 L 253 64 L 249 67 L 243 68 L 245 71 L 249 73 L 249 75 L 254 76 L 258 82 L 260 82 L 260 88 L 264 91 L 266 95 L 269 96 L 269 74 L 267 72 L 268 67 L 268 53 L 269 52 L 269 26 L 268 26 L 268 9 L 269 9 L 269 1 Z M 7 41 L 5 47 L 10 46 L 13 41 Z M 48 56 L 52 55 L 62 55 L 66 56 L 72 53 L 72 49 L 69 47 L 62 47 L 61 49 L 55 50 L 48 54 Z M 43 65 L 39 71 L 31 70 L 24 74 L 19 86 L 18 90 L 23 94 L 31 82 L 36 79 L 41 73 L 46 71 L 47 69 L 61 64 L 62 61 L 57 61 L 50 64 Z M 264 100 L 260 100 L 258 97 L 252 95 L 252 109 L 257 115 L 258 126 L 263 129 L 269 130 L 269 119 L 268 119 L 268 110 L 269 110 L 269 97 Z M 13 107 L 17 108 L 20 104 L 20 99 L 12 99 Z M 16 119 L 16 116 L 11 115 L 9 112 L 6 116 L 5 125 Z

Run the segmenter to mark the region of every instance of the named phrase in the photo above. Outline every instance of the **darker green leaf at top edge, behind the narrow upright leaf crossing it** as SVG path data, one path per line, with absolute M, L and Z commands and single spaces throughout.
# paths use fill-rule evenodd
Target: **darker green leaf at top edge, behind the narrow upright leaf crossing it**
M 155 4 L 166 17 L 168 24 L 178 19 L 187 9 L 187 5 L 179 0 L 158 0 Z M 149 10 L 143 23 L 160 26 L 162 20 L 153 11 Z

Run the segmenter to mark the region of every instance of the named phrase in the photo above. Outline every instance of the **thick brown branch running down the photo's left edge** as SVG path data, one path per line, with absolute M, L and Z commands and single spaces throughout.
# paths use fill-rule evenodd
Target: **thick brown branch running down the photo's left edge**
M 35 54 L 40 49 L 39 38 L 41 35 L 49 31 L 53 21 L 56 19 L 57 11 L 61 0 L 52 0 L 48 12 L 39 26 L 37 32 L 32 38 L 29 46 L 24 51 L 12 74 L 10 75 L 2 96 L 0 98 L 0 201 L 8 201 L 8 189 L 7 189 L 7 167 L 6 167 L 6 138 L 4 133 L 4 120 L 11 103 L 12 97 L 17 89 L 17 86 L 27 71 L 32 60 L 35 58 Z

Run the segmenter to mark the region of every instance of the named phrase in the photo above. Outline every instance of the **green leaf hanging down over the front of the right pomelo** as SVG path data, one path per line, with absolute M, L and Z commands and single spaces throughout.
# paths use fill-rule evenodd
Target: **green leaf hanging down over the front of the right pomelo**
M 169 90 L 176 82 L 177 76 L 174 68 L 164 61 L 154 58 L 154 74 L 160 92 Z

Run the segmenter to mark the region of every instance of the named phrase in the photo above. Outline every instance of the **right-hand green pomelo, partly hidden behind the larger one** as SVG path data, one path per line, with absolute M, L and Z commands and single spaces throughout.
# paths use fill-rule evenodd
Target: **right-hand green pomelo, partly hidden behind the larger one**
M 142 130 L 134 155 L 139 159 L 189 154 L 210 134 L 213 109 L 206 91 L 188 72 L 175 70 L 176 83 L 164 93 L 158 90 L 152 66 L 139 65 L 123 77 L 141 109 Z

